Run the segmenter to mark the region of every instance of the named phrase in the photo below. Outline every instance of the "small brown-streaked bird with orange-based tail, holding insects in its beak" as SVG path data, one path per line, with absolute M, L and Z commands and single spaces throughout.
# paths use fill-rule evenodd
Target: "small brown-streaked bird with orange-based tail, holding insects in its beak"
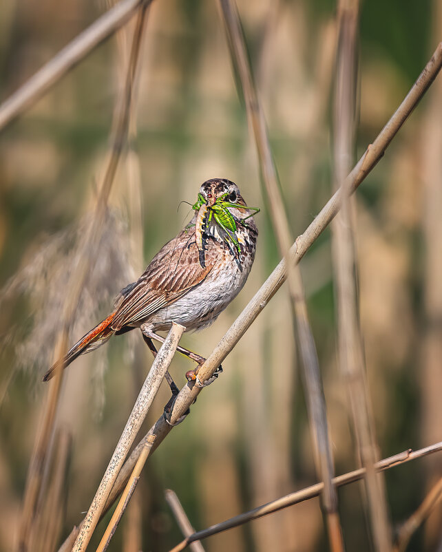
M 56 361 L 43 381 L 81 354 L 135 328 L 155 356 L 153 340 L 165 339 L 157 332 L 168 331 L 172 322 L 185 331 L 206 328 L 235 299 L 255 259 L 258 232 L 253 214 L 260 209 L 248 207 L 238 186 L 225 178 L 203 182 L 193 209 L 191 222 L 162 246 L 136 282 L 120 291 L 111 314 Z M 204 357 L 180 346 L 177 350 L 197 363 L 196 370 L 186 374 L 195 380 Z M 169 374 L 167 381 L 176 392 Z

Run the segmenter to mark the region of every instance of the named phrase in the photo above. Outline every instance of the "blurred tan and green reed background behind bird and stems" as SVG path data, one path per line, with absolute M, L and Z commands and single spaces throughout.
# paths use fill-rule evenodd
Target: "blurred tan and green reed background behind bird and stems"
M 3 0 L 0 98 L 109 6 Z M 242 0 L 238 10 L 291 231 L 298 235 L 333 192 L 337 6 Z M 78 271 L 81 240 L 98 204 L 134 28 L 131 21 L 0 134 L 1 550 L 16 549 L 23 531 L 28 465 L 49 393 L 41 376 L 60 339 L 63 305 L 72 294 L 67 284 Z M 361 4 L 359 120 L 350 167 L 441 36 L 437 0 Z M 280 258 L 217 3 L 154 1 L 134 79 L 129 143 L 100 233 L 91 238 L 98 253 L 83 268 L 85 290 L 72 306 L 69 341 L 107 315 L 120 288 L 187 222 L 189 206 L 180 202 L 194 202 L 200 184 L 220 176 L 237 182 L 246 201 L 263 209 L 246 287 L 211 328 L 182 339 L 208 355 Z M 441 97 L 439 76 L 355 196 L 359 310 L 380 458 L 442 440 Z M 331 251 L 327 230 L 300 266 L 340 474 L 354 469 L 357 458 L 338 363 Z M 83 518 L 150 365 L 141 336 L 125 335 L 66 372 L 50 438 L 54 460 L 42 474 L 45 500 L 37 500 L 42 513 L 30 531 L 30 549 L 58 549 Z M 186 359 L 173 361 L 181 385 L 191 367 Z M 146 430 L 168 398 L 164 385 Z M 165 502 L 167 488 L 177 493 L 193 527 L 202 529 L 317 480 L 286 286 L 191 412 L 149 459 L 109 550 L 167 551 L 181 539 Z M 441 475 L 437 454 L 386 472 L 393 529 Z M 346 550 L 373 550 L 364 486 L 353 483 L 338 496 Z M 41 535 L 48 539 L 43 544 Z M 203 544 L 212 552 L 328 549 L 318 499 Z M 442 550 L 440 507 L 414 534 L 410 550 Z

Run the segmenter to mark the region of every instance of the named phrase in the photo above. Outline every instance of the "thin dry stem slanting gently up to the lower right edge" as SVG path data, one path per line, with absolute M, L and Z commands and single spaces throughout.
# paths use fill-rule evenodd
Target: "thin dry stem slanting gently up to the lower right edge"
M 427 456 L 428 454 L 440 451 L 442 451 L 442 441 L 440 441 L 439 443 L 434 443 L 434 445 L 430 445 L 429 447 L 425 447 L 417 451 L 412 451 L 411 449 L 408 449 L 404 452 L 395 454 L 394 456 L 390 456 L 389 458 L 385 458 L 384 460 L 377 462 L 375 464 L 375 469 L 377 471 L 386 471 L 387 469 L 390 469 L 392 467 L 396 467 L 410 462 L 411 460 L 416 460 L 417 458 L 422 458 L 423 456 Z M 348 472 L 348 474 L 343 474 L 341 476 L 333 478 L 333 485 L 335 485 L 336 487 L 342 487 L 343 485 L 348 485 L 349 483 L 359 481 L 365 476 L 366 469 L 361 467 L 359 469 L 355 469 L 355 471 Z M 262 518 L 262 516 L 267 516 L 269 513 L 274 513 L 275 511 L 287 508 L 288 506 L 293 506 L 295 504 L 299 504 L 299 502 L 311 500 L 311 498 L 320 496 L 323 490 L 324 482 L 320 482 L 316 483 L 315 485 L 311 485 L 310 487 L 306 487 L 305 489 L 302 489 L 300 491 L 295 491 L 294 493 L 290 493 L 286 496 L 282 496 L 281 498 L 277 498 L 277 500 L 267 502 L 266 504 L 258 506 L 257 508 L 253 508 L 250 511 L 240 513 L 239 516 L 235 516 L 234 518 L 230 518 L 229 520 L 212 525 L 207 529 L 202 529 L 202 531 L 197 531 L 196 533 L 193 533 L 193 535 L 190 535 L 187 539 L 177 544 L 177 546 L 175 546 L 169 552 L 180 552 L 195 540 L 201 540 L 211 535 L 216 535 L 218 533 L 221 533 L 222 531 L 227 531 L 228 529 L 233 529 L 233 527 L 238 527 L 244 523 Z

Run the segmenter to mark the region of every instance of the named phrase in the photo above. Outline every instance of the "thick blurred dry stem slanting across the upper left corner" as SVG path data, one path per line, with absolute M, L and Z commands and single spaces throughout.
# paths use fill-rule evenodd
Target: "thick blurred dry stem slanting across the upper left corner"
M 92 25 L 56 54 L 48 63 L 26 81 L 12 96 L 0 105 L 0 131 L 29 109 L 50 87 L 74 65 L 134 14 L 139 6 L 148 6 L 151 0 L 121 0 L 114 8 L 98 17 Z

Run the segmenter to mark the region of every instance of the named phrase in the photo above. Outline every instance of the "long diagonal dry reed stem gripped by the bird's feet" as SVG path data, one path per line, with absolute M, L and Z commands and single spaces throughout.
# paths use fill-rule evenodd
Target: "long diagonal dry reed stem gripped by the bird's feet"
M 375 141 L 368 146 L 368 149 L 366 149 L 363 156 L 359 159 L 355 167 L 348 175 L 348 186 L 351 191 L 355 191 L 357 187 L 359 187 L 359 184 L 363 182 L 366 176 L 368 176 L 368 173 L 372 171 L 377 162 L 381 159 L 394 136 L 397 134 L 403 123 L 405 123 L 414 107 L 416 107 L 419 103 L 419 100 L 422 98 L 423 94 L 425 94 L 428 87 L 430 87 L 431 83 L 434 81 L 434 78 L 436 78 L 437 74 L 439 74 L 441 67 L 442 42 L 436 47 L 432 58 L 428 61 L 427 65 L 425 65 L 423 72 L 419 75 L 419 78 L 410 89 L 410 92 L 408 92 L 406 98 L 403 99 L 396 112 L 394 112 L 390 120 L 388 120 L 388 123 L 385 127 L 383 127 Z M 328 224 L 330 224 L 335 217 L 340 205 L 339 195 L 340 191 L 337 191 L 330 198 L 330 200 L 328 200 L 326 205 L 324 205 L 306 231 L 297 237 L 295 244 L 291 247 L 291 261 L 294 264 L 299 263 L 308 249 L 311 248 L 313 243 L 317 240 L 317 237 L 324 231 L 324 229 L 326 229 Z M 213 372 L 217 370 L 218 366 L 222 363 L 222 361 L 224 361 L 229 352 L 231 352 L 238 341 L 240 341 L 246 330 L 249 329 L 256 317 L 265 308 L 266 304 L 269 303 L 273 295 L 275 295 L 277 290 L 279 290 L 282 284 L 284 284 L 285 279 L 286 263 L 284 259 L 282 259 L 282 261 L 275 267 L 271 275 L 269 275 L 266 279 L 264 284 L 262 284 L 257 293 L 255 293 L 251 301 L 249 301 L 246 308 L 242 310 L 241 314 L 233 322 L 229 330 L 227 330 L 224 337 L 222 337 L 218 345 L 211 352 L 207 361 L 201 366 L 198 371 L 198 376 L 201 381 L 206 381 L 213 375 Z M 176 397 L 169 422 L 176 423 L 176 421 L 178 421 L 178 419 L 183 416 L 185 412 L 187 412 L 189 407 L 191 407 L 199 393 L 200 388 L 191 383 L 187 383 Z M 126 460 L 125 465 L 123 465 L 123 468 L 120 470 L 120 474 L 118 474 L 118 478 L 112 488 L 112 492 L 109 494 L 109 498 L 107 499 L 103 514 L 112 506 L 121 491 L 123 491 L 129 475 L 132 469 L 134 469 L 136 460 L 138 460 L 138 456 L 140 456 L 149 435 L 156 435 L 156 440 L 152 447 L 152 452 L 154 452 L 156 447 L 158 447 L 160 443 L 162 443 L 162 440 L 164 440 L 169 434 L 171 427 L 172 426 L 165 421 L 164 417 L 161 416 L 151 427 L 151 429 L 149 429 L 149 432 L 147 432 L 145 437 L 140 440 L 140 443 L 138 443 L 134 451 Z M 63 546 L 60 550 L 65 550 L 63 549 Z

